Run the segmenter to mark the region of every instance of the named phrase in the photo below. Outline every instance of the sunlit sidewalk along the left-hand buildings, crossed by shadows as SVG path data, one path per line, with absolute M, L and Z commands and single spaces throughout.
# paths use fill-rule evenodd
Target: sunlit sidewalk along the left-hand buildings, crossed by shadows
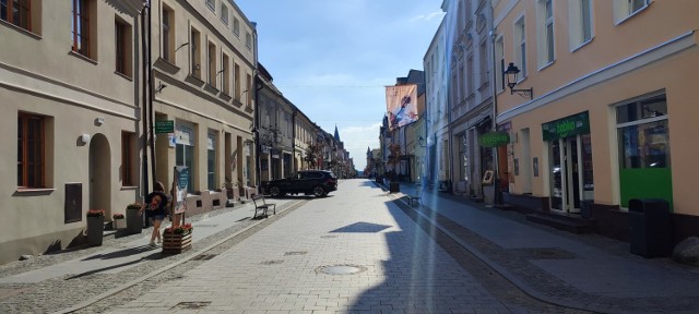
M 276 203 L 277 207 L 283 207 L 288 202 L 293 202 L 293 200 L 274 200 L 273 203 Z M 194 237 L 192 237 L 192 246 L 217 232 L 251 218 L 254 214 L 252 204 L 251 201 L 247 204 L 237 204 L 235 208 L 230 208 L 232 210 L 226 210 L 214 217 L 210 217 L 208 214 L 197 217 L 197 220 L 191 222 L 196 230 Z M 170 226 L 169 221 L 163 221 L 161 232 L 168 226 Z M 36 283 L 69 275 L 80 276 L 97 271 L 118 274 L 140 265 L 140 263 L 147 261 L 153 253 L 162 251 L 159 245 L 149 245 L 151 231 L 152 228 L 145 228 L 140 234 L 129 235 L 128 240 L 131 240 L 129 242 L 112 243 L 112 245 L 105 245 L 103 250 L 82 254 L 70 261 L 0 278 L 0 283 Z

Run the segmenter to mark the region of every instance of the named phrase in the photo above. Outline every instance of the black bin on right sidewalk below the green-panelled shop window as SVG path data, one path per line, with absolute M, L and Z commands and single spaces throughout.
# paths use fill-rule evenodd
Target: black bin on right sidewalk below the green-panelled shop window
M 630 200 L 629 218 L 632 254 L 643 257 L 671 256 L 672 218 L 665 200 Z

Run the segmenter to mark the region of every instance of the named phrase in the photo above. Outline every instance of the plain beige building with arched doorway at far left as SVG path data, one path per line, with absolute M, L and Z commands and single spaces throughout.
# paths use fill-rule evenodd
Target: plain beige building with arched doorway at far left
M 5 5 L 3 3 L 3 5 Z M 0 263 L 76 244 L 139 195 L 141 1 L 7 1 Z

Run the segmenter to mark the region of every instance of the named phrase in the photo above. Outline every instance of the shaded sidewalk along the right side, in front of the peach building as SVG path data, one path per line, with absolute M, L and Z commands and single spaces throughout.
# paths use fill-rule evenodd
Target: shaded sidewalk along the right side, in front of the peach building
M 407 204 L 416 190 L 401 183 L 394 194 Z M 643 258 L 628 243 L 559 231 L 459 195 L 423 189 L 420 197 L 425 218 L 534 298 L 603 313 L 699 313 L 697 267 Z

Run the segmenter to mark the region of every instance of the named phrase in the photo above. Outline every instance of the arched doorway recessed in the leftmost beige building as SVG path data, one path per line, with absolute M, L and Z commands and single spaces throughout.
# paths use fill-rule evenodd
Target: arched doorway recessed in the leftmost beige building
M 111 217 L 111 153 L 103 134 L 90 141 L 88 167 L 90 209 L 105 209 L 105 217 Z

